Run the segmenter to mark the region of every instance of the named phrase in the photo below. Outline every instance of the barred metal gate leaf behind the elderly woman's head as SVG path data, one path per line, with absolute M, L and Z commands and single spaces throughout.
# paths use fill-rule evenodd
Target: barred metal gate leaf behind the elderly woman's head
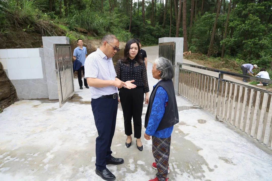
M 163 56 L 172 62 L 173 67 L 175 67 L 175 57 L 176 57 L 176 42 L 165 42 L 159 43 L 159 56 Z M 174 68 L 175 75 L 175 68 Z M 175 78 L 173 78 L 173 83 L 175 85 Z

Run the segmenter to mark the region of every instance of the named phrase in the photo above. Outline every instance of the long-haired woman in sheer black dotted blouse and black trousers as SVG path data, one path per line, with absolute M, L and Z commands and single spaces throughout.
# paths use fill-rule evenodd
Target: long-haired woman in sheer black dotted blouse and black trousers
M 140 57 L 140 47 L 135 39 L 131 39 L 126 43 L 124 50 L 124 58 L 118 60 L 115 66 L 117 78 L 126 82 L 127 80 L 135 80 L 133 84 L 137 87 L 133 89 L 120 88 L 119 96 L 123 109 L 124 125 L 126 138 L 126 147 L 130 147 L 132 142 L 132 125 L 133 118 L 134 137 L 136 139 L 137 148 L 142 151 L 143 144 L 141 142 L 142 130 L 142 111 L 143 96 L 145 96 L 145 104 L 148 104 L 149 87 L 147 81 L 146 66 Z

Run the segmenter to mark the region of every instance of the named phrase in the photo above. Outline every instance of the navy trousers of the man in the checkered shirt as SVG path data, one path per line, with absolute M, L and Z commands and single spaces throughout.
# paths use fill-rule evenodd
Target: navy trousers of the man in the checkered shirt
M 98 98 L 92 99 L 92 113 L 98 132 L 95 144 L 97 170 L 106 169 L 106 160 L 112 158 L 112 138 L 115 132 L 118 99 Z

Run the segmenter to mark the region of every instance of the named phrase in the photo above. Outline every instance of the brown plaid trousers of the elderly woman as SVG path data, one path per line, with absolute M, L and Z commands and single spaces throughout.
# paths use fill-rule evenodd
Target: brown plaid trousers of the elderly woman
M 169 138 L 157 138 L 152 136 L 152 153 L 157 165 L 159 180 L 165 181 L 168 174 L 168 161 L 170 155 L 171 136 Z

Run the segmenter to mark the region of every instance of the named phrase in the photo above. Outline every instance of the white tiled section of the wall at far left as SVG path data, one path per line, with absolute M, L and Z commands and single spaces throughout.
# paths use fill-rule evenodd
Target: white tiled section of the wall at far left
M 39 48 L 0 49 L 0 62 L 10 80 L 43 78 Z

